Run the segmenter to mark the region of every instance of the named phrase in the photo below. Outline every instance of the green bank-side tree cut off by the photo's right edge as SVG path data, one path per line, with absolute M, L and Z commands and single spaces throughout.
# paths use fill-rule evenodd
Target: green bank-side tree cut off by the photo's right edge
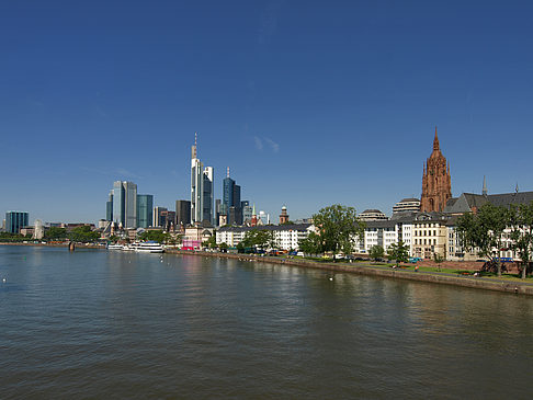
M 508 226 L 511 229 L 511 249 L 522 260 L 522 278 L 525 279 L 533 255 L 533 202 L 519 206 L 511 204 L 508 218 Z

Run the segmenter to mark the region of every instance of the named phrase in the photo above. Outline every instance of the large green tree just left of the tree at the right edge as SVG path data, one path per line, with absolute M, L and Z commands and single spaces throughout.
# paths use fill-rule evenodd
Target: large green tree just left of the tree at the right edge
M 496 265 L 498 276 L 501 276 L 499 254 L 508 220 L 508 210 L 490 203 L 484 204 L 477 214 L 467 213 L 457 220 L 456 230 L 465 249 L 479 249 L 479 254 Z

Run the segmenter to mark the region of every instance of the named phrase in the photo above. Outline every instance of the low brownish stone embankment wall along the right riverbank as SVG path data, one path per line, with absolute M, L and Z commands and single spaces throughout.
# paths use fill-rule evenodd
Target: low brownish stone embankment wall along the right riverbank
M 211 253 L 204 251 L 186 251 L 186 250 L 166 250 L 169 254 L 182 255 L 200 255 L 226 259 L 246 259 L 254 262 L 299 266 L 314 270 L 322 270 L 339 273 L 350 273 L 366 276 L 386 277 L 392 279 L 417 281 L 433 283 L 440 285 L 451 285 L 460 287 L 468 287 L 475 289 L 485 289 L 492 292 L 502 292 L 517 295 L 533 296 L 533 284 L 522 282 L 507 282 L 503 279 L 485 278 L 476 276 L 461 276 L 461 275 L 445 275 L 445 273 L 431 272 L 411 272 L 402 271 L 401 268 L 390 268 L 388 266 L 370 265 L 365 263 L 317 263 L 309 260 L 297 259 L 275 259 L 269 256 L 256 256 L 249 254 L 228 254 L 228 253 Z

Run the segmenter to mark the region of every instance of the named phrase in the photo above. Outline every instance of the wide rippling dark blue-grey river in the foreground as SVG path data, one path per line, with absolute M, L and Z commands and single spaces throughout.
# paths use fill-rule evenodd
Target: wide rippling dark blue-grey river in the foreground
M 533 390 L 533 299 L 517 295 L 1 245 L 0 305 L 2 399 L 526 399 Z

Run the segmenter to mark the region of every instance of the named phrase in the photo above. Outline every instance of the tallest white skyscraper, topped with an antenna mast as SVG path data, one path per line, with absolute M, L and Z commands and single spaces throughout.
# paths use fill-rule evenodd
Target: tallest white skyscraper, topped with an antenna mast
M 207 220 L 213 224 L 213 167 L 205 167 L 197 158 L 196 134 L 191 151 L 191 222 Z

